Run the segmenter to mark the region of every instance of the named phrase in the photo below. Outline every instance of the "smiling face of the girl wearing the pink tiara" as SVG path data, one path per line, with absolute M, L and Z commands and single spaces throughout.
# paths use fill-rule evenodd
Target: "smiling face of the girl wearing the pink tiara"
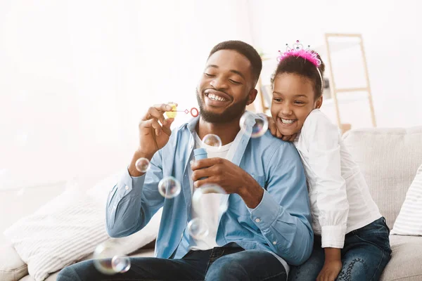
M 271 115 L 282 135 L 298 133 L 309 113 L 321 104 L 322 97 L 315 100 L 314 85 L 309 78 L 283 73 L 274 79 Z

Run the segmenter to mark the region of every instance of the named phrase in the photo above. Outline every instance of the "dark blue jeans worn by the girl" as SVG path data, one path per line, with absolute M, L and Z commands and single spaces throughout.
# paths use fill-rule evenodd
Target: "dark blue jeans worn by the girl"
M 347 233 L 345 246 L 341 249 L 343 267 L 337 279 L 347 281 L 378 280 L 390 261 L 390 229 L 385 218 Z M 288 280 L 316 280 L 324 266 L 324 249 L 321 236 L 315 236 L 311 257 L 301 266 L 290 267 Z

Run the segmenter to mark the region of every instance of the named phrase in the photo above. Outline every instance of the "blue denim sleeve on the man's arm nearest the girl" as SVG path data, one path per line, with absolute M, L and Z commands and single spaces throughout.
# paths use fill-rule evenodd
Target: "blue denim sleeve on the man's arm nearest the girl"
M 269 247 L 288 263 L 304 263 L 312 252 L 314 233 L 305 173 L 292 144 L 281 145 L 269 161 L 264 196 L 250 218 Z

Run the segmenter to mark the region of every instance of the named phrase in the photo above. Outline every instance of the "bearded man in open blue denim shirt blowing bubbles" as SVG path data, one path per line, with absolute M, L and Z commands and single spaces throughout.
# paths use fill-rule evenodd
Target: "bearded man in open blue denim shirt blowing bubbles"
M 200 116 L 170 131 L 173 119 L 163 113 L 172 107 L 163 104 L 150 107 L 141 120 L 139 148 L 108 197 L 107 229 L 111 237 L 131 235 L 163 207 L 157 258 L 132 258 L 127 273 L 111 276 L 84 261 L 62 270 L 58 280 L 286 280 L 287 263 L 298 265 L 309 257 L 313 233 L 298 152 L 269 132 L 250 138 L 252 114 L 245 130 L 239 128 L 246 105 L 257 95 L 261 69 L 252 46 L 217 44 L 196 90 Z M 221 138 L 219 150 L 203 144 L 210 133 Z M 191 162 L 193 149 L 200 147 L 207 148 L 208 158 Z M 151 159 L 146 174 L 135 169 L 140 157 Z M 181 183 L 172 199 L 158 192 L 166 176 Z M 215 208 L 200 216 L 192 210 L 192 194 L 207 183 L 228 195 L 209 199 Z M 224 202 L 229 208 L 218 214 Z M 204 240 L 193 239 L 186 227 L 198 217 L 210 228 Z

